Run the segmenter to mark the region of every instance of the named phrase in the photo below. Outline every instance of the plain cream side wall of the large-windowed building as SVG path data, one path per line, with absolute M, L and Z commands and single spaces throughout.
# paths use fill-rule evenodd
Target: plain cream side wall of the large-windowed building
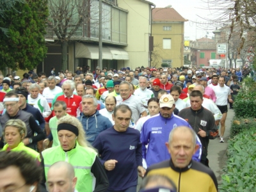
M 118 0 L 118 6 L 128 10 L 127 47 L 129 60 L 118 61 L 118 68 L 147 67 L 149 65 L 148 36 L 150 35 L 150 12 L 148 3 L 138 0 Z

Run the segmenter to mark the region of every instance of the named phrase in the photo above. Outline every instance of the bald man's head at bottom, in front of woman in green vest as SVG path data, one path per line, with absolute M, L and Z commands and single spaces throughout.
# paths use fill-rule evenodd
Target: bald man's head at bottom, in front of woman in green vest
M 49 192 L 78 192 L 75 189 L 77 177 L 75 177 L 74 168 L 71 164 L 58 161 L 49 168 L 47 176 Z

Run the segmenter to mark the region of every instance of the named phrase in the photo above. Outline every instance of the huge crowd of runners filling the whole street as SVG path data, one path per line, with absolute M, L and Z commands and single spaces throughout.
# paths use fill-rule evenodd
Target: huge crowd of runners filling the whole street
M 135 192 L 138 175 L 141 191 L 218 191 L 209 140 L 225 142 L 248 75 L 88 66 L 0 75 L 0 191 Z

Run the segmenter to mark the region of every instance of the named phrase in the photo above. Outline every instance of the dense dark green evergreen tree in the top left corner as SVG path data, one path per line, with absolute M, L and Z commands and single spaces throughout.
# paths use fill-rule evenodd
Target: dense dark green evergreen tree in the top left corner
M 4 11 L 4 16 L 0 18 L 0 26 L 8 29 L 8 33 L 0 31 L 0 70 L 35 68 L 47 52 L 44 41 L 47 1 L 16 2 Z

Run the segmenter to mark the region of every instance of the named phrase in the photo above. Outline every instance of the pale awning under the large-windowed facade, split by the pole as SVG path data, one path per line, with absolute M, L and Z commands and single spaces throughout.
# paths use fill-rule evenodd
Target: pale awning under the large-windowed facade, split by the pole
M 76 43 L 76 58 L 99 60 L 99 45 Z M 103 60 L 129 60 L 124 49 L 112 46 L 102 46 Z

